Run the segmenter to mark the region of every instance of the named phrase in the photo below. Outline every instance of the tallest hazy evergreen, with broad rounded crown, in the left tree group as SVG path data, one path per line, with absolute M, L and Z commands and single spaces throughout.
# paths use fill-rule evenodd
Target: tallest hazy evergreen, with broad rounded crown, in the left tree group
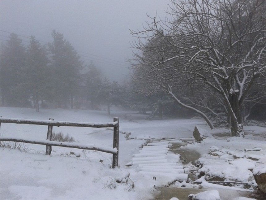
M 83 63 L 79 60 L 80 57 L 74 47 L 64 39 L 63 34 L 53 30 L 52 37 L 53 42 L 49 44 L 53 72 L 52 100 L 56 103 L 56 107 L 61 108 L 62 103 L 67 107 L 67 102 L 71 99 L 72 108 L 73 98 L 79 87 L 79 69 Z

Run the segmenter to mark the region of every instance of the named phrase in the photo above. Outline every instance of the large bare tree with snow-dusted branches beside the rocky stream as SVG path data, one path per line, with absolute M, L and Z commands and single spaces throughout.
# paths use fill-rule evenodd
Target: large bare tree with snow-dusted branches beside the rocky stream
M 212 89 L 228 111 L 232 136 L 244 137 L 243 102 L 266 74 L 265 8 L 265 0 L 171 0 L 168 20 L 153 18 L 132 31 L 140 50 L 135 76 L 145 79 L 145 92 L 161 89 L 179 103 L 182 85 Z

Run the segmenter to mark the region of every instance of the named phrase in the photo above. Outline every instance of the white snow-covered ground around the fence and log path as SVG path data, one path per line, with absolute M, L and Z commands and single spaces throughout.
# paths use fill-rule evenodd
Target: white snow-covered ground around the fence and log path
M 219 175 L 224 167 L 228 167 L 227 174 L 221 172 L 225 174 L 225 180 L 231 177 L 230 180 L 252 183 L 249 170 L 266 161 L 266 128 L 256 126 L 245 127 L 248 134 L 243 139 L 213 137 L 226 130 L 209 131 L 204 120 L 147 121 L 144 120 L 145 115 L 135 112 L 113 111 L 112 115 L 107 115 L 105 111 L 41 109 L 40 113 L 36 113 L 29 108 L 0 107 L 0 115 L 5 118 L 53 118 L 73 122 L 112 122 L 113 117 L 119 117 L 120 122 L 119 167 L 116 169 L 111 169 L 112 155 L 98 151 L 53 146 L 51 156 L 47 156 L 43 145 L 24 144 L 26 151 L 22 152 L 0 148 L 1 199 L 154 199 L 159 193 L 158 187 L 169 185 L 183 176 L 167 174 L 168 171 L 182 174 L 179 166 L 172 167 L 173 163 L 179 165 L 180 160 L 176 154 L 166 154 L 168 146 L 165 146 L 165 141 L 159 144 L 160 140 L 174 138 L 176 140 L 173 141 L 178 141 L 179 138 L 192 137 L 195 126 L 208 137 L 202 143 L 193 142 L 181 148 L 194 149 L 202 155 L 199 163 L 204 164 L 200 170 L 205 176 L 201 181 L 205 181 L 206 175 Z M 53 131 L 69 134 L 82 144 L 113 146 L 112 128 L 53 127 Z M 2 137 L 34 140 L 46 139 L 46 133 L 47 126 L 41 125 L 2 123 L 0 129 Z M 140 147 L 147 141 L 156 144 L 141 154 Z M 261 150 L 245 151 L 254 147 Z M 152 153 L 155 150 L 157 153 Z M 241 159 L 236 160 L 236 155 Z M 250 161 L 249 156 L 260 160 Z M 148 168 L 145 163 L 141 164 L 147 159 L 153 163 L 166 160 L 167 167 L 163 167 L 164 171 L 158 164 Z M 128 163 L 133 165 L 126 167 Z M 189 166 L 188 170 L 191 170 Z M 205 183 L 203 187 L 211 189 L 212 185 Z

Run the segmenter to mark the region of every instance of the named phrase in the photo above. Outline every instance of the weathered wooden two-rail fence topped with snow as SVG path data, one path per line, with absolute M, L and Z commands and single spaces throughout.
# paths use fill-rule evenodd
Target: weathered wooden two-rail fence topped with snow
M 54 119 L 49 120 L 26 120 L 26 119 L 11 119 L 0 117 L 0 128 L 1 123 L 13 123 L 13 124 L 35 124 L 35 125 L 46 125 L 48 126 L 46 140 L 24 140 L 21 138 L 14 137 L 0 137 L 0 141 L 13 141 L 13 142 L 24 142 L 31 144 L 46 145 L 45 154 L 51 154 L 52 146 L 62 146 L 76 149 L 85 150 L 97 150 L 106 153 L 113 154 L 112 168 L 118 166 L 118 149 L 119 149 L 119 118 L 114 118 L 114 122 L 111 123 L 76 123 L 76 122 L 64 122 L 64 121 L 54 121 Z M 72 127 L 90 127 L 90 128 L 114 128 L 114 140 L 113 148 L 108 148 L 104 146 L 94 146 L 94 145 L 84 145 L 74 142 L 58 142 L 51 141 L 53 126 L 72 126 Z

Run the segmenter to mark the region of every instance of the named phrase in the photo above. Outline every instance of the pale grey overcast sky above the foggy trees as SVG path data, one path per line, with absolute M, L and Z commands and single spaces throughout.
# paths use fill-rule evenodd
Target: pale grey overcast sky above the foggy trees
M 79 52 L 84 61 L 93 60 L 110 80 L 122 80 L 128 74 L 126 59 L 132 56 L 129 41 L 134 38 L 129 29 L 141 29 L 149 20 L 146 13 L 164 19 L 167 4 L 167 0 L 1 0 L 1 42 L 8 39 L 6 32 L 51 42 L 55 29 L 75 50 L 88 53 Z

